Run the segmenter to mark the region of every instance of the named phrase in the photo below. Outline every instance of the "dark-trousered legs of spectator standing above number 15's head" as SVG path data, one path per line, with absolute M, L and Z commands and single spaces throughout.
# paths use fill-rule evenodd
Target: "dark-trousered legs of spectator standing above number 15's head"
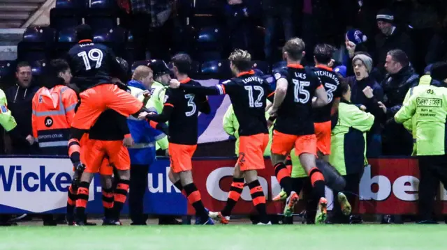
M 290 40 L 295 35 L 293 26 L 293 1 L 292 0 L 263 0 L 265 44 L 264 52 L 267 61 L 272 62 L 273 49 L 277 47 L 275 34 L 277 33 L 277 21 L 281 20 L 284 29 L 285 40 Z M 307 42 L 307 41 L 306 41 Z

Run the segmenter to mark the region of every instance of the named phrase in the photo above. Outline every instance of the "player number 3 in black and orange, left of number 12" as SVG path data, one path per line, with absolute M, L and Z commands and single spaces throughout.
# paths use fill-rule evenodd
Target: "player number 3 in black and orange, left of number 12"
M 172 58 L 175 77 L 185 86 L 200 86 L 188 77 L 191 58 L 187 54 L 177 54 Z M 139 118 L 147 118 L 157 123 L 169 121 L 170 180 L 179 190 L 184 190 L 189 203 L 196 210 L 200 224 L 214 224 L 203 206 L 200 192 L 193 183 L 191 157 L 197 148 L 198 111 L 210 114 L 210 104 L 205 95 L 185 93 L 168 88 L 161 114 L 142 112 Z

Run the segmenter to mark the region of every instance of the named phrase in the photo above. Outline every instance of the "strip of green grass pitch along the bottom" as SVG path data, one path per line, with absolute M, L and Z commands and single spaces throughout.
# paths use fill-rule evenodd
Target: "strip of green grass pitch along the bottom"
M 0 250 L 447 249 L 446 225 L 0 228 Z

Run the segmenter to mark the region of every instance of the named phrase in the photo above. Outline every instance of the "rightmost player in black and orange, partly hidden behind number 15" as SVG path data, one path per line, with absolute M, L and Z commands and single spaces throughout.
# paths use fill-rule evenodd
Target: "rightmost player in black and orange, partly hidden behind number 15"
M 323 159 L 325 162 L 329 162 L 330 155 L 331 116 L 338 110 L 338 104 L 342 96 L 338 87 L 340 81 L 328 65 L 332 60 L 332 52 L 334 52 L 334 47 L 327 44 L 316 45 L 314 49 L 314 72 L 320 78 L 328 94 L 329 102 L 324 107 L 314 109 L 318 159 Z

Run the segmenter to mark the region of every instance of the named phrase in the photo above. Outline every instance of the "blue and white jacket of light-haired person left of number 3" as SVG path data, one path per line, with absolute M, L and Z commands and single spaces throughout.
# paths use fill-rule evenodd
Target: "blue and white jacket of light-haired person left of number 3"
M 134 80 L 129 81 L 128 86 L 133 96 L 147 90 L 140 82 Z M 146 120 L 136 120 L 133 116 L 127 119 L 127 124 L 135 142 L 134 146 L 129 148 L 131 164 L 152 164 L 156 160 L 155 143 L 166 134 L 151 127 Z

